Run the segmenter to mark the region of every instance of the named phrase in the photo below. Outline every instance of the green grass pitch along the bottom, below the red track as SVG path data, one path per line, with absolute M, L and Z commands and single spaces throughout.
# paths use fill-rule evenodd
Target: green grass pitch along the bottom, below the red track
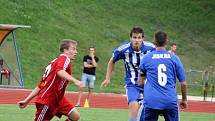
M 120 109 L 98 109 L 98 108 L 79 108 L 81 119 L 79 121 L 126 121 L 128 117 L 127 110 Z M 35 107 L 28 106 L 26 109 L 19 109 L 17 105 L 0 105 L 1 121 L 32 121 L 34 119 Z M 62 117 L 60 121 L 64 121 Z M 213 121 L 214 114 L 208 113 L 190 113 L 181 112 L 181 121 Z M 56 121 L 58 118 L 53 118 Z M 164 121 L 163 117 L 159 117 L 159 121 Z

